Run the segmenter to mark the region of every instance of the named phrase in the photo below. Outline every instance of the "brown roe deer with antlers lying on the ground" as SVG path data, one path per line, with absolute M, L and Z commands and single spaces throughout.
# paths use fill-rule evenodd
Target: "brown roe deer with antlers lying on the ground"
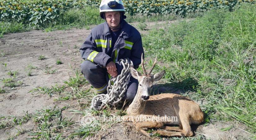
M 150 137 L 149 134 L 141 128 L 165 129 L 154 132 L 162 136 L 193 136 L 190 124 L 202 123 L 204 121 L 204 113 L 199 105 L 185 96 L 172 93 L 150 96 L 153 82 L 160 80 L 165 73 L 165 71 L 162 71 L 150 75 L 155 63 L 156 58 L 153 67 L 147 74 L 141 56 L 141 67 L 144 74 L 141 75 L 134 68 L 130 68 L 132 77 L 139 81 L 139 85 L 135 98 L 127 108 L 128 115 L 125 117 L 133 118 L 132 121 L 136 124 L 136 130 L 148 137 Z M 134 117 L 142 118 L 143 121 L 138 121 Z M 172 117 L 177 120 L 161 120 L 159 117 Z M 179 125 L 179 128 L 164 126 L 166 124 Z

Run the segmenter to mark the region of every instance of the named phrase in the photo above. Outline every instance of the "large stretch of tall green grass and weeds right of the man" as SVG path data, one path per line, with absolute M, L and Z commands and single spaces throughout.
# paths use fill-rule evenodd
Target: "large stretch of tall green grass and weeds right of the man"
M 146 59 L 157 55 L 164 63 L 152 73 L 166 70 L 168 86 L 192 99 L 204 98 L 202 108 L 209 120 L 239 121 L 252 133 L 256 132 L 255 11 L 250 4 L 241 4 L 234 12 L 208 11 L 142 37 Z

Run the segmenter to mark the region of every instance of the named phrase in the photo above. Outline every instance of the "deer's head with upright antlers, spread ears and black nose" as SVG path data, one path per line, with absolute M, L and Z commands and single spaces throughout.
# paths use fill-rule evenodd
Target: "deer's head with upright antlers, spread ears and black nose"
M 142 55 L 141 55 L 141 68 L 143 70 L 143 75 L 140 72 L 138 72 L 136 69 L 130 67 L 132 77 L 139 81 L 136 96 L 141 96 L 140 99 L 142 99 L 143 101 L 146 101 L 149 99 L 150 92 L 151 92 L 152 86 L 153 86 L 153 82 L 160 80 L 164 76 L 164 73 L 165 73 L 165 71 L 162 71 L 162 72 L 158 72 L 154 75 L 150 74 L 152 72 L 153 68 L 155 67 L 156 58 L 157 57 L 155 57 L 155 62 L 153 64 L 152 68 L 150 69 L 149 73 L 147 73 L 144 68 L 144 59 L 143 59 Z

